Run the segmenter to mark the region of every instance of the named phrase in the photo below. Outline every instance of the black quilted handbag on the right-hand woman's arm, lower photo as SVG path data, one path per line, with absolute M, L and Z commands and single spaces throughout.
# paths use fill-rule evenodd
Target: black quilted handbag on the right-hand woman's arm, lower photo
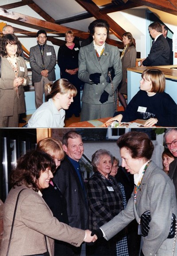
M 147 236 L 150 226 L 151 217 L 150 217 L 150 211 L 142 213 L 142 216 L 140 217 L 140 225 L 141 225 L 141 235 Z M 176 216 L 172 213 L 172 222 L 169 230 L 169 235 L 167 238 L 174 238 L 175 232 L 176 232 Z

